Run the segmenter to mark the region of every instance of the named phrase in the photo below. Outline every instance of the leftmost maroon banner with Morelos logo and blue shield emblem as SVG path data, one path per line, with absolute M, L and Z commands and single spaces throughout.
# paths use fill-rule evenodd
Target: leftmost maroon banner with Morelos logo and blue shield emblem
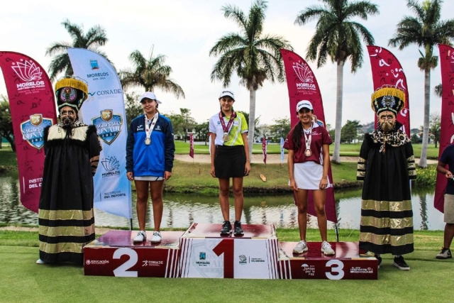
M 18 162 L 21 202 L 38 212 L 44 169 L 44 128 L 57 121 L 52 83 L 31 57 L 0 52 Z

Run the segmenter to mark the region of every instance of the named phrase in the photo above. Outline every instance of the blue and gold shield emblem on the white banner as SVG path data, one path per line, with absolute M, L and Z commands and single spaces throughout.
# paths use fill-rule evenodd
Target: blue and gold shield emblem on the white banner
M 123 118 L 121 115 L 114 114 L 111 109 L 101 111 L 101 116 L 92 119 L 96 126 L 99 138 L 105 143 L 111 145 L 121 132 Z

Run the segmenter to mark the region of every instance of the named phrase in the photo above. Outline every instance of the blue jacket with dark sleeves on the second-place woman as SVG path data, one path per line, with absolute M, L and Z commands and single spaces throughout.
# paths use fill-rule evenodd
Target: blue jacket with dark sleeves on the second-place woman
M 134 176 L 164 177 L 164 172 L 172 172 L 175 155 L 175 142 L 170 119 L 159 114 L 151 144 L 145 145 L 145 114 L 138 116 L 128 129 L 126 141 L 126 171 Z

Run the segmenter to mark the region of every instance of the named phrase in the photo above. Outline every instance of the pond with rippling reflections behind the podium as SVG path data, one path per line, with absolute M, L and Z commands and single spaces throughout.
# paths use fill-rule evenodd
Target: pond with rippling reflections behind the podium
M 414 211 L 415 230 L 443 230 L 443 214 L 433 207 L 434 189 L 413 189 L 411 203 Z M 336 211 L 339 228 L 360 227 L 361 189 L 336 192 Z M 233 219 L 233 198 L 231 198 L 231 219 Z M 96 226 L 128 227 L 129 220 L 105 211 L 95 209 Z M 162 227 L 185 228 L 193 222 L 221 223 L 221 209 L 217 196 L 197 194 L 164 195 Z M 296 228 L 297 207 L 293 197 L 287 195 L 245 196 L 242 221 L 244 224 L 275 224 L 277 227 Z M 17 176 L 0 176 L 0 222 L 7 224 L 38 225 L 38 214 L 29 211 L 19 201 Z M 153 224 L 153 213 L 148 208 L 147 228 Z M 133 192 L 133 226 L 137 228 L 135 214 L 135 192 Z M 316 218 L 309 216 L 308 227 L 317 226 Z M 334 224 L 328 222 L 328 228 Z

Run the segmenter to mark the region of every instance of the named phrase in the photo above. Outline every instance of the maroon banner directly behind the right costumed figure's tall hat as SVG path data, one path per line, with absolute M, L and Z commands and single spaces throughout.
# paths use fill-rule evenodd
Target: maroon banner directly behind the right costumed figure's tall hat
M 397 115 L 397 121 L 402 123 L 402 131 L 410 133 L 410 101 L 409 91 L 406 85 L 406 77 L 399 60 L 386 48 L 380 46 L 367 45 L 372 67 L 372 80 L 374 91 L 383 85 L 393 85 L 403 89 L 405 92 L 405 107 Z M 369 100 L 370 101 L 370 100 Z M 375 128 L 377 128 L 377 115 L 375 116 Z

